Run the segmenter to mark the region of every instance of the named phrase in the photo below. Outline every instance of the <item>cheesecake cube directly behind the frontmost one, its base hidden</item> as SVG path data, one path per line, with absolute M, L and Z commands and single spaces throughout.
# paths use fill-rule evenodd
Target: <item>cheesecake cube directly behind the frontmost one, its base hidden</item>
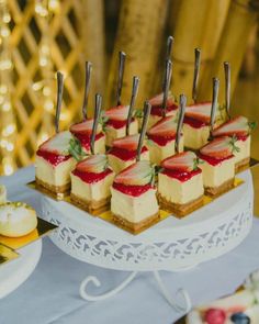
M 108 153 L 109 165 L 119 174 L 121 170 L 133 165 L 137 156 L 139 134 L 124 136 L 113 141 Z M 149 160 L 149 150 L 146 145 L 142 147 L 142 160 Z

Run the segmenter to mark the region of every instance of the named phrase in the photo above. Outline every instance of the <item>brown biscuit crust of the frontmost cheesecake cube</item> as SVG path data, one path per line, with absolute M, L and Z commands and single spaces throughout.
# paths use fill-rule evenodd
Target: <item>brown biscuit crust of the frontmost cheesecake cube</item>
M 115 214 L 112 214 L 112 220 L 120 227 L 123 227 L 133 234 L 138 234 L 139 232 L 150 227 L 151 225 L 155 225 L 160 220 L 160 214 L 158 211 L 155 215 L 151 215 L 138 223 L 130 222 Z

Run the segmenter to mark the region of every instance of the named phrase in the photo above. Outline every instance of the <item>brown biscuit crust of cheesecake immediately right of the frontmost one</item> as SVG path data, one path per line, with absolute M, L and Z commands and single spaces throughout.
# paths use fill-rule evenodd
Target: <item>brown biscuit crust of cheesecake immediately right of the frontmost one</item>
M 173 213 L 178 217 L 183 217 L 203 205 L 203 195 L 200 195 L 188 203 L 180 204 L 169 202 L 158 193 L 158 201 L 162 210 Z

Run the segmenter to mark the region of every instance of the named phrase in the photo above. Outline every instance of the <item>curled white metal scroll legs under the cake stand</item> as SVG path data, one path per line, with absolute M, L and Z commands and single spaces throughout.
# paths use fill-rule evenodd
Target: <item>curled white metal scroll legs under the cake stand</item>
M 137 276 L 138 271 L 133 271 L 124 281 L 122 281 L 117 287 L 113 288 L 112 290 L 93 295 L 88 292 L 88 286 L 89 283 L 93 283 L 95 287 L 101 287 L 101 281 L 94 277 L 94 276 L 88 276 L 86 279 L 82 280 L 79 289 L 80 297 L 87 301 L 101 301 L 105 300 L 110 297 L 115 295 L 120 291 L 122 291 L 127 284 L 130 284 L 134 278 Z M 170 292 L 166 288 L 165 283 L 162 282 L 161 276 L 159 271 L 153 271 L 153 275 L 158 283 L 158 287 L 164 295 L 164 298 L 167 300 L 167 302 L 177 311 L 177 312 L 184 312 L 188 313 L 191 308 L 191 299 L 189 297 L 189 293 L 184 289 L 179 289 L 173 297 L 171 297 Z

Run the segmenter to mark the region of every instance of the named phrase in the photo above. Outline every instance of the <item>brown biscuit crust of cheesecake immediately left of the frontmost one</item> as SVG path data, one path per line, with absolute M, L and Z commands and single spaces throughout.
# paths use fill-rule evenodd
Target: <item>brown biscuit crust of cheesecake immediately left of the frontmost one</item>
M 92 215 L 99 215 L 99 214 L 110 210 L 110 205 L 111 205 L 111 198 L 110 197 L 101 199 L 99 201 L 97 201 L 97 200 L 88 201 L 86 199 L 77 197 L 74 193 L 70 193 L 70 199 L 75 205 L 89 212 Z

